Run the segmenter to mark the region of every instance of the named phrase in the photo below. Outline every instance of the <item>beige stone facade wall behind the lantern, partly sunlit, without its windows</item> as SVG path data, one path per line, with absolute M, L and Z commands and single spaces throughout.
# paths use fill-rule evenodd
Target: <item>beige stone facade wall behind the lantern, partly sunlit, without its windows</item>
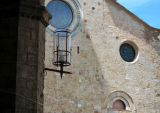
M 159 113 L 160 31 L 115 1 L 79 2 L 84 23 L 72 38 L 72 62 L 65 68 L 73 74 L 61 79 L 59 73 L 45 72 L 44 113 Z M 120 56 L 125 41 L 138 47 L 134 62 Z M 53 33 L 49 28 L 45 44 L 45 67 L 58 69 L 52 65 Z M 127 110 L 110 109 L 114 98 L 124 98 Z

